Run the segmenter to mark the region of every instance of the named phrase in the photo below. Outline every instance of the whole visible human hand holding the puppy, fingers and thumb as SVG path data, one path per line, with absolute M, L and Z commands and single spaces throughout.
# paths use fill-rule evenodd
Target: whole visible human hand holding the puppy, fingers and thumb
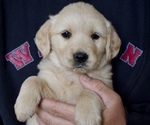
M 80 77 L 84 88 L 96 92 L 103 100 L 105 109 L 102 113 L 103 125 L 125 125 L 125 111 L 120 96 L 99 80 L 86 75 Z M 75 106 L 44 99 L 38 110 L 38 123 L 40 125 L 74 125 Z

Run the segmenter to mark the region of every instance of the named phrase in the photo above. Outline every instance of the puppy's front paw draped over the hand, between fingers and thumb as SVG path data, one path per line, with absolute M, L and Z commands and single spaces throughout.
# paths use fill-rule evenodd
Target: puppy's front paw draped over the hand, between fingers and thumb
M 102 104 L 100 98 L 89 91 L 82 93 L 77 102 L 75 120 L 77 125 L 101 125 Z

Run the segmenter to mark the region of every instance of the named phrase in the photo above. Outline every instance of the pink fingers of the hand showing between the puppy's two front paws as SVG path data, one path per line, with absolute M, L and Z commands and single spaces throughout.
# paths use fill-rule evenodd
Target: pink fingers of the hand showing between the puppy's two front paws
M 52 99 L 43 99 L 37 110 L 39 125 L 75 125 L 75 106 Z

